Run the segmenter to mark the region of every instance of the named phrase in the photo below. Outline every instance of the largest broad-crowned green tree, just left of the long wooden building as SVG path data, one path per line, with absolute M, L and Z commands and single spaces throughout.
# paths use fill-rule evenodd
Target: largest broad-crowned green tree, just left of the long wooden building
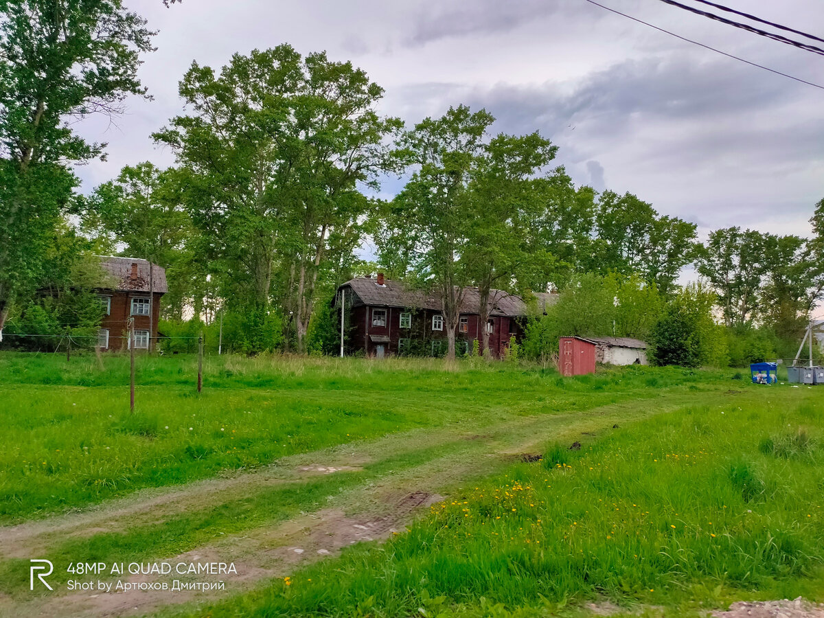
M 322 265 L 361 240 L 371 203 L 358 185 L 377 188 L 393 166 L 386 137 L 402 124 L 377 114 L 382 95 L 351 63 L 283 44 L 236 54 L 219 75 L 193 63 L 180 96 L 194 114 L 155 135 L 192 172 L 193 219 L 227 296 L 265 314 L 277 273 L 300 350 Z

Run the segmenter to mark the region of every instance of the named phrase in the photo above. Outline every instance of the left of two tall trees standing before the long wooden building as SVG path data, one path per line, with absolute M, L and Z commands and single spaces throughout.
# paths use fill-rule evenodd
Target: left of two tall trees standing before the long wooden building
M 417 166 L 392 200 L 386 220 L 381 261 L 409 265 L 419 282 L 438 292 L 447 331 L 447 358 L 455 358 L 455 329 L 465 288 L 472 283 L 467 251 L 475 211 L 469 188 L 494 122 L 486 110 L 466 105 L 442 118 L 426 118 L 406 133 L 401 144 L 407 161 Z M 396 255 L 397 251 L 407 255 Z

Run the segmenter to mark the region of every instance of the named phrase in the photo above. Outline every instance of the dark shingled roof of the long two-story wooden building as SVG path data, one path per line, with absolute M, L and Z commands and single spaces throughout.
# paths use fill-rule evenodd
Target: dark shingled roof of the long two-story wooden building
M 377 279 L 361 277 L 351 279 L 340 286 L 341 288 L 351 288 L 358 295 L 364 305 L 377 307 L 400 307 L 414 309 L 432 309 L 438 311 L 442 308 L 440 298 L 437 294 L 426 293 L 421 290 L 410 290 L 400 281 L 390 281 L 384 279 L 383 285 L 377 284 Z M 544 311 L 545 307 L 555 304 L 558 300 L 557 293 L 536 293 L 538 301 L 538 311 Z M 502 290 L 492 290 L 490 299 L 493 303 L 492 316 L 526 316 L 527 305 L 522 298 L 514 294 L 503 292 Z M 477 313 L 480 298 L 478 288 L 466 288 L 464 292 L 461 313 Z

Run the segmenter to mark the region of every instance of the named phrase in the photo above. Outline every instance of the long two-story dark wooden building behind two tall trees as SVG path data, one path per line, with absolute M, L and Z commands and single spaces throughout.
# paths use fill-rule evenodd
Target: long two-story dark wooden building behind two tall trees
M 447 350 L 446 322 L 440 298 L 407 288 L 404 283 L 369 277 L 351 279 L 338 288 L 333 307 L 343 299 L 346 311 L 344 339 L 350 352 L 363 350 L 377 357 L 388 354 L 440 356 Z M 536 294 L 537 310 L 551 305 L 555 293 Z M 469 353 L 473 341 L 480 342 L 485 328 L 489 350 L 503 356 L 510 339 L 522 337 L 527 303 L 521 297 L 493 290 L 489 298 L 489 320 L 480 324 L 477 288 L 466 288 L 455 331 L 456 353 Z

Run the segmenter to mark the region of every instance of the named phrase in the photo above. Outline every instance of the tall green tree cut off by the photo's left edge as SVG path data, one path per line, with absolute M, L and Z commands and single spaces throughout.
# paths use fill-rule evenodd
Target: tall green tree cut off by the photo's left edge
M 98 157 L 70 121 L 145 96 L 145 21 L 120 0 L 0 0 L 0 333 L 37 286 L 48 237 L 72 204 L 68 164 Z

